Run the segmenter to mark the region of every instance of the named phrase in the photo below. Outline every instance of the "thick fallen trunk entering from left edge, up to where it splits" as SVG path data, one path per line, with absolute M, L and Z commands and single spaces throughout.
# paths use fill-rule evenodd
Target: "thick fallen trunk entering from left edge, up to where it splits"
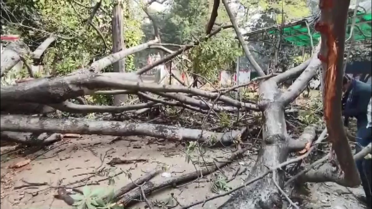
M 106 77 L 109 81 L 114 78 L 122 79 L 121 81 L 138 80 L 138 76 L 132 73 L 94 74 L 85 71 L 65 77 L 38 78 L 18 83 L 15 86 L 1 87 L 1 105 L 22 102 L 55 104 L 85 94 L 92 94 L 95 89 L 112 87 L 99 81 L 100 77 Z

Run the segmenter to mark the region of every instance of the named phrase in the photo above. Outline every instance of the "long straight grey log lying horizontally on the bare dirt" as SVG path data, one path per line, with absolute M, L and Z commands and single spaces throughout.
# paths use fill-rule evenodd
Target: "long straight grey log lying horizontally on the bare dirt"
M 152 136 L 176 141 L 210 141 L 214 143 L 221 142 L 222 144 L 231 144 L 242 133 L 242 131 L 215 133 L 150 123 L 125 123 L 72 118 L 54 119 L 22 115 L 1 115 L 0 120 L 0 131 Z

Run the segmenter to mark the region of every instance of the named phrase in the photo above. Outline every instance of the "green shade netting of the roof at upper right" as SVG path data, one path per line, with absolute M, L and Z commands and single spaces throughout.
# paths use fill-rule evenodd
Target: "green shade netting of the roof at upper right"
M 347 19 L 346 28 L 346 38 L 350 36 L 350 28 L 352 25 L 353 17 L 350 16 Z M 356 24 L 354 27 L 353 38 L 355 41 L 365 41 L 371 40 L 371 13 L 357 12 Z M 277 28 L 267 31 L 267 34 L 274 35 L 279 34 L 280 31 Z M 319 42 L 320 34 L 313 28 L 310 28 L 310 33 L 312 35 L 312 41 L 314 45 Z M 286 44 L 296 45 L 296 46 L 311 46 L 310 36 L 308 34 L 308 28 L 305 22 L 298 22 L 296 25 L 291 25 L 283 29 L 282 39 Z

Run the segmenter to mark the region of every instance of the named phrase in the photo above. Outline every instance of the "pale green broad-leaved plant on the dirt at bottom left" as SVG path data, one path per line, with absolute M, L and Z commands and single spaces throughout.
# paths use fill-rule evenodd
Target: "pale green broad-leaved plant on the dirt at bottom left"
M 89 187 L 84 186 L 83 194 L 73 194 L 71 197 L 75 200 L 73 206 L 77 209 L 121 209 L 117 203 L 113 202 L 114 192 L 113 189 L 98 188 L 91 190 Z

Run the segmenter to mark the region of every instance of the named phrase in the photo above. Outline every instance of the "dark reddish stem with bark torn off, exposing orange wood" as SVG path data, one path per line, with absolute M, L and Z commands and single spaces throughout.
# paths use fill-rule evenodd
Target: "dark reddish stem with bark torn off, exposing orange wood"
M 330 3 L 330 4 L 328 4 Z M 341 97 L 343 80 L 344 44 L 347 13 L 350 0 L 320 2 L 321 17 L 315 28 L 320 31 L 322 44 L 320 60 L 323 61 L 324 75 L 324 118 L 327 124 L 332 149 L 340 166 L 340 172 L 332 173 L 330 169 L 320 171 L 324 180 L 329 178 L 343 179 L 344 185 L 358 186 L 359 173 L 343 128 L 341 119 Z M 339 180 L 337 180 L 339 181 Z

